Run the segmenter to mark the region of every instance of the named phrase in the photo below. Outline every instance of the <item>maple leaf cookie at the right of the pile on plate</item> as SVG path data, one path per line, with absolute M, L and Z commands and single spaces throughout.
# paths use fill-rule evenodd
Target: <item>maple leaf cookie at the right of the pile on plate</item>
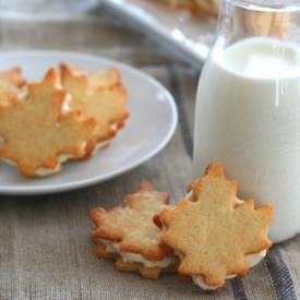
M 61 84 L 70 93 L 70 108 L 93 117 L 98 123 L 96 140 L 100 143 L 112 139 L 124 125 L 128 110 L 124 107 L 127 91 L 115 69 L 96 71 L 85 75 L 81 69 L 72 71 L 60 65 Z

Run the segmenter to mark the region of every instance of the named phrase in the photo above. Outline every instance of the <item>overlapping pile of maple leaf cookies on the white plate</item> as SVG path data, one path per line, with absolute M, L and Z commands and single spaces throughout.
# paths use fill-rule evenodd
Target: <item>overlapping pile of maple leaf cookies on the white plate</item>
M 84 159 L 124 125 L 127 91 L 116 69 L 85 74 L 61 64 L 27 83 L 20 68 L 0 73 L 0 158 L 27 177 Z

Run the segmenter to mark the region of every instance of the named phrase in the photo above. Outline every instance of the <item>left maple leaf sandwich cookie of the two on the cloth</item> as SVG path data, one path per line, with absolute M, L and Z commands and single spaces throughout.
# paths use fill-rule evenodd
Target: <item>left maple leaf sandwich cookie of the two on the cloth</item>
M 176 272 L 172 252 L 161 243 L 161 229 L 153 220 L 168 207 L 168 195 L 144 181 L 137 193 L 125 197 L 125 203 L 127 206 L 108 212 L 92 209 L 97 255 L 116 259 L 119 271 L 140 272 L 145 278 L 157 278 L 160 272 Z

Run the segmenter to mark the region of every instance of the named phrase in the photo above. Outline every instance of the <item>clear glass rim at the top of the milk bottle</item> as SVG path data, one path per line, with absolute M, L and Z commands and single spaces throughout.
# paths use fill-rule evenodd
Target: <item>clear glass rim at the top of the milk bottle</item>
M 224 0 L 237 7 L 260 11 L 299 11 L 299 0 Z

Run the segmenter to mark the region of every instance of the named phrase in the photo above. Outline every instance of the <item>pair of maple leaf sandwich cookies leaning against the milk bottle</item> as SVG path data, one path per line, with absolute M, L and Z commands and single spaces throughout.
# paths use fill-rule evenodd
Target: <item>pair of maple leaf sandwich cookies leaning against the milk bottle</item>
M 181 279 L 215 290 L 226 279 L 245 276 L 272 245 L 273 206 L 255 208 L 253 200 L 239 200 L 237 182 L 227 180 L 218 164 L 175 206 L 148 182 L 125 203 L 92 211 L 96 253 L 116 260 L 117 269 L 145 278 L 178 272 Z

